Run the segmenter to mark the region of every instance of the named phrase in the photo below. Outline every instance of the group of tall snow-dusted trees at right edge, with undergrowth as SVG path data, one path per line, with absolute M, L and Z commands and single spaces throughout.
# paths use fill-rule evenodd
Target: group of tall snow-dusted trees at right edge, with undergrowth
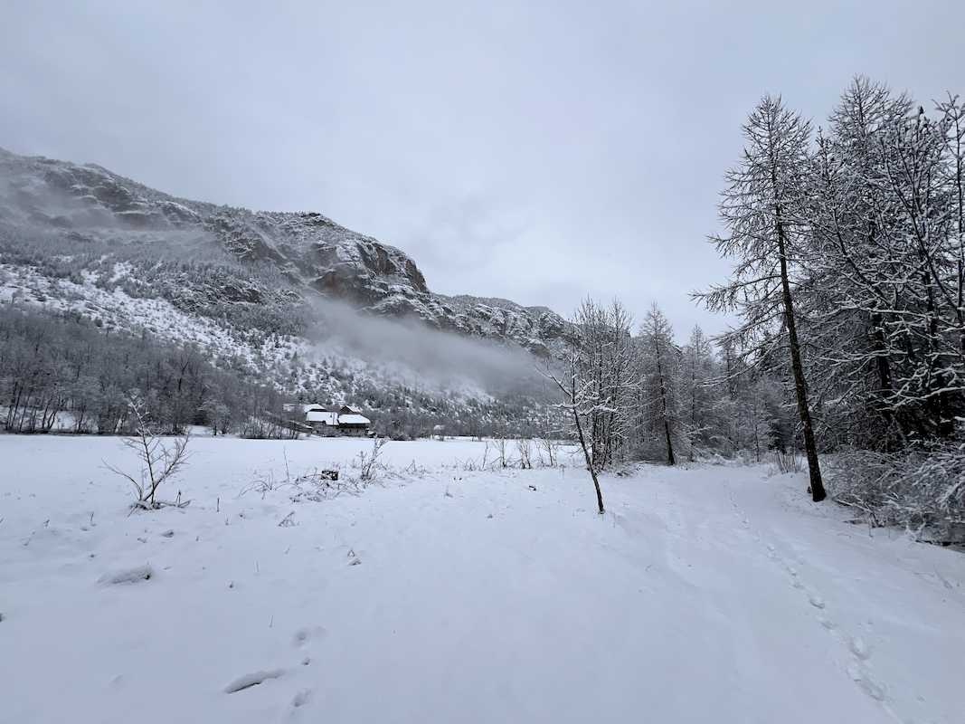
M 715 239 L 736 266 L 704 298 L 745 355 L 789 362 L 815 499 L 819 447 L 846 446 L 839 500 L 961 536 L 965 106 L 857 78 L 816 135 L 772 97 L 744 133 Z

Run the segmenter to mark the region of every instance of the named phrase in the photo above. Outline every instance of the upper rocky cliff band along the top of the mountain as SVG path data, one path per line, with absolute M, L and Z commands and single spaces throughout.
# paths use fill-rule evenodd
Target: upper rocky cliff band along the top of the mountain
M 277 269 L 288 287 L 265 289 L 263 281 L 236 278 L 221 279 L 216 292 L 209 285 L 202 291 L 182 273 L 183 298 L 257 305 L 292 294 L 304 301 L 321 296 L 373 316 L 514 343 L 538 356 L 561 345 L 566 330 L 565 320 L 545 307 L 432 293 L 407 254 L 320 213 L 256 213 L 177 199 L 95 165 L 0 150 L 0 226 L 14 235 L 73 235 L 78 244 L 136 242 L 156 254 L 222 253 L 251 269 Z

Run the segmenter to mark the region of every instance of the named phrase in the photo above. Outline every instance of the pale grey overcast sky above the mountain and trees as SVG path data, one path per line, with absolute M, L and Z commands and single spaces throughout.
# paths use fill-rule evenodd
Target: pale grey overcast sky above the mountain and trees
M 429 288 L 724 320 L 722 177 L 765 92 L 965 94 L 965 2 L 0 0 L 0 147 L 317 210 Z

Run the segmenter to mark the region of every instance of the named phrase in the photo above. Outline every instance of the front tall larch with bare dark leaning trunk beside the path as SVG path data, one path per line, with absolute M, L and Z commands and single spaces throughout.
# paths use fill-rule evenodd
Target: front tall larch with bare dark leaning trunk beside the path
M 786 109 L 780 97 L 763 97 L 743 126 L 747 140 L 740 164 L 726 176 L 721 220 L 728 236 L 715 236 L 718 252 L 735 261 L 729 284 L 698 294 L 713 311 L 743 320 L 730 336 L 759 351 L 756 341 L 786 340 L 804 433 L 815 502 L 827 497 L 817 459 L 794 290 L 807 252 L 807 210 L 812 158 L 811 125 Z

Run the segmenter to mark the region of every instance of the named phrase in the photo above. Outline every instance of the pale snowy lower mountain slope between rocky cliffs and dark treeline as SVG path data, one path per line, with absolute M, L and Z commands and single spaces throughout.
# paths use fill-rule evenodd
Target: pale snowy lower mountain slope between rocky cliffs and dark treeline
M 119 273 L 125 269 L 119 268 Z M 406 415 L 426 416 L 429 428 L 442 422 L 457 432 L 460 416 L 471 411 L 474 425 L 483 430 L 500 421 L 505 425 L 508 416 L 517 424 L 514 430 L 535 427 L 538 402 L 501 402 L 500 390 L 514 385 L 487 384 L 487 377 L 501 374 L 525 382 L 525 375 L 532 372 L 525 359 L 500 348 L 387 321 L 343 319 L 350 311 L 330 315 L 335 331 L 323 343 L 298 335 L 265 334 L 190 314 L 162 297 L 131 296 L 120 286 L 108 291 L 91 273 L 80 276 L 73 281 L 33 266 L 0 265 L 0 305 L 67 319 L 84 317 L 108 333 L 146 333 L 177 342 L 199 350 L 212 365 L 269 382 L 293 397 L 361 404 L 376 417 L 398 418 L 404 408 Z M 346 336 L 349 327 L 357 337 Z M 384 348 L 386 344 L 390 349 Z M 425 353 L 431 361 L 416 355 L 414 350 L 421 348 L 433 350 Z

